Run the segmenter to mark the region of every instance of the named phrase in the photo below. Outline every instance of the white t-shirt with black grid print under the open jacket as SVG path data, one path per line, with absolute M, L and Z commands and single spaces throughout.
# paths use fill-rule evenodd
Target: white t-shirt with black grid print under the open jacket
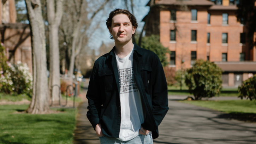
M 144 123 L 141 95 L 133 76 L 132 51 L 124 58 L 116 54 L 119 74 L 121 126 L 119 140 L 131 140 L 139 135 L 139 128 Z

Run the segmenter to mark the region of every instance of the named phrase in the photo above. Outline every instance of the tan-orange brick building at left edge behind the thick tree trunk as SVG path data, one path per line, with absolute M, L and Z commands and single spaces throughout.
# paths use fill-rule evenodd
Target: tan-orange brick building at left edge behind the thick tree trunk
M 27 64 L 32 73 L 32 50 L 29 24 L 16 23 L 14 0 L 1 0 L 0 39 L 7 51 L 7 58 L 14 64 Z

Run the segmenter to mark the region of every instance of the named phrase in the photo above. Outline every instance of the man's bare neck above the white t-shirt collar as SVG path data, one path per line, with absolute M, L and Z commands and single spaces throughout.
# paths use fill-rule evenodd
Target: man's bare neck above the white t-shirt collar
M 119 58 L 124 58 L 127 56 L 133 48 L 132 40 L 130 40 L 127 43 L 117 43 L 115 42 L 115 54 Z

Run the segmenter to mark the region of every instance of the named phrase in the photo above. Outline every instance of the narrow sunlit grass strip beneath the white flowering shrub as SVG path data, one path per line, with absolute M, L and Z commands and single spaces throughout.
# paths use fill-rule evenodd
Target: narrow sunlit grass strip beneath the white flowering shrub
M 29 100 L 31 101 L 31 98 L 26 94 L 20 94 L 20 95 L 10 95 L 5 93 L 0 93 L 0 101 L 22 101 L 22 100 Z

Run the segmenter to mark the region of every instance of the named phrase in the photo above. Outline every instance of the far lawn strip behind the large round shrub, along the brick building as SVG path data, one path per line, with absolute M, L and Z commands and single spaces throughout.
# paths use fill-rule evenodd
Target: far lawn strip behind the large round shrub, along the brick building
M 192 96 L 193 94 L 189 93 L 189 89 L 186 86 L 180 87 L 168 86 L 168 95 L 185 95 Z M 220 96 L 238 96 L 237 88 L 222 88 Z

